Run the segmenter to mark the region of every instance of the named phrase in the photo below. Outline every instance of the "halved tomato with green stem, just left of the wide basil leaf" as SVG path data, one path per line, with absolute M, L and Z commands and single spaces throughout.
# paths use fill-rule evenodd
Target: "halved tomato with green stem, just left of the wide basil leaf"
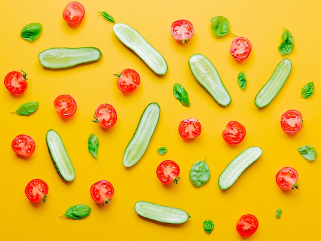
M 179 166 L 171 160 L 160 163 L 156 169 L 157 178 L 164 184 L 177 184 L 179 179 Z

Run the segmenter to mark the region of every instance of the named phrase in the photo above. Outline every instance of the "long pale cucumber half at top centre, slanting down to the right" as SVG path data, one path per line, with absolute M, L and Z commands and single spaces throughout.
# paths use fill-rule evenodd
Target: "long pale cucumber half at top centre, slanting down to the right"
M 116 23 L 113 26 L 116 37 L 157 75 L 167 72 L 167 63 L 163 57 L 150 43 L 134 28 L 127 24 Z

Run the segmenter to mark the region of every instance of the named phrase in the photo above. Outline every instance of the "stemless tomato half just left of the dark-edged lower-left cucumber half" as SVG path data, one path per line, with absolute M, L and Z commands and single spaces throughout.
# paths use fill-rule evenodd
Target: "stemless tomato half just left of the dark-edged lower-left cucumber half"
M 36 147 L 34 140 L 27 135 L 18 135 L 11 142 L 12 150 L 20 156 L 29 157 Z

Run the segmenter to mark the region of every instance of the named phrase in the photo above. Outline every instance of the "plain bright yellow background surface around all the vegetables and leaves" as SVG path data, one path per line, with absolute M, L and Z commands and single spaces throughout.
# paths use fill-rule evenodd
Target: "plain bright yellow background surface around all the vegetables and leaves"
M 312 145 L 321 151 L 320 117 L 320 11 L 319 1 L 89 1 L 82 0 L 86 15 L 76 28 L 68 26 L 62 11 L 68 1 L 0 2 L 1 64 L 4 79 L 10 71 L 28 73 L 28 89 L 12 96 L 4 85 L 1 98 L 1 240 L 244 240 L 235 229 L 237 219 L 251 213 L 258 218 L 257 232 L 249 240 L 315 240 L 319 235 L 320 163 L 308 162 L 297 151 Z M 107 11 L 116 20 L 134 27 L 162 55 L 168 72 L 156 76 L 112 32 L 113 24 L 98 11 Z M 250 57 L 236 62 L 229 54 L 233 36 L 215 37 L 210 19 L 222 15 L 230 20 L 231 32 L 252 43 Z M 173 21 L 188 19 L 195 33 L 187 45 L 179 45 L 170 34 Z M 33 22 L 43 25 L 34 42 L 23 40 L 21 29 Z M 277 47 L 283 27 L 289 29 L 295 47 L 290 58 L 292 72 L 282 91 L 266 108 L 254 105 L 254 97 L 283 58 Z M 102 58 L 91 64 L 65 70 L 44 69 L 37 54 L 51 47 L 99 48 Z M 207 56 L 217 68 L 232 103 L 219 106 L 196 82 L 188 58 L 194 53 Z M 141 85 L 124 95 L 116 87 L 114 73 L 131 68 L 141 76 Z M 244 71 L 248 85 L 244 91 L 237 84 L 237 74 Z M 302 87 L 314 81 L 311 98 L 300 98 Z M 173 96 L 175 82 L 189 93 L 191 106 L 185 107 Z M 77 112 L 70 120 L 61 119 L 53 106 L 55 97 L 69 94 L 77 102 Z M 39 101 L 30 116 L 10 114 L 26 102 Z M 116 124 L 104 130 L 92 122 L 95 108 L 112 104 L 118 114 Z M 150 102 L 160 105 L 161 113 L 146 154 L 132 168 L 122 163 L 123 152 L 132 137 L 143 109 Z M 280 127 L 280 117 L 288 109 L 303 115 L 304 128 L 287 135 Z M 202 134 L 192 141 L 178 135 L 178 124 L 196 118 Z M 236 120 L 244 124 L 247 135 L 238 145 L 230 146 L 222 138 L 226 124 Z M 76 171 L 72 183 L 65 183 L 50 160 L 45 136 L 48 129 L 61 135 Z M 89 134 L 100 141 L 98 159 L 87 149 Z M 19 158 L 11 150 L 11 141 L 19 134 L 36 142 L 34 154 Z M 242 150 L 259 146 L 263 155 L 250 166 L 228 190 L 218 188 L 220 172 Z M 157 148 L 166 146 L 165 156 Z M 196 161 L 206 161 L 211 179 L 194 188 L 188 172 Z M 156 177 L 157 165 L 165 159 L 180 166 L 177 185 L 165 186 Z M 292 166 L 299 173 L 299 190 L 284 192 L 275 183 L 276 172 Z M 35 178 L 49 185 L 45 204 L 33 205 L 24 189 Z M 115 194 L 110 205 L 97 205 L 90 196 L 90 186 L 99 180 L 110 181 Z M 167 225 L 145 220 L 134 211 L 136 201 L 149 201 L 186 210 L 191 218 L 183 225 Z M 86 204 L 92 208 L 83 220 L 60 218 L 71 205 Z M 283 215 L 275 218 L 277 208 Z M 215 228 L 209 235 L 203 221 L 211 219 Z

